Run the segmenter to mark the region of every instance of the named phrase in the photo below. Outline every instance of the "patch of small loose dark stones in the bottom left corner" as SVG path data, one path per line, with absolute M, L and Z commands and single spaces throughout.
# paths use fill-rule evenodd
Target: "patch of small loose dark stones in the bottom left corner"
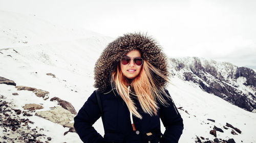
M 46 142 L 48 137 L 42 128 L 32 128 L 34 124 L 29 119 L 20 115 L 21 110 L 13 109 L 12 102 L 4 101 L 5 97 L 0 96 L 0 128 L 2 142 Z M 0 141 L 0 142 L 1 142 Z

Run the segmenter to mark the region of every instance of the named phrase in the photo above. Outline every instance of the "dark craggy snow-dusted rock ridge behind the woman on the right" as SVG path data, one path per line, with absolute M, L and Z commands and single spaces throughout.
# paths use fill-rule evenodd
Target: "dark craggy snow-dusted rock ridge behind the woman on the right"
M 256 109 L 256 74 L 246 67 L 200 58 L 170 59 L 170 73 L 248 111 Z M 244 83 L 240 83 L 244 82 Z M 245 86 L 246 88 L 240 86 Z

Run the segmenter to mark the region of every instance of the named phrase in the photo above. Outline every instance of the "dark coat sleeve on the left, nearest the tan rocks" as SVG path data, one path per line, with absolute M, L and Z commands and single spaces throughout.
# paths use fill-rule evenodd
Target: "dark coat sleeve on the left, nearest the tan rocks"
M 83 142 L 102 143 L 103 137 L 92 126 L 101 116 L 95 91 L 74 118 L 74 128 Z

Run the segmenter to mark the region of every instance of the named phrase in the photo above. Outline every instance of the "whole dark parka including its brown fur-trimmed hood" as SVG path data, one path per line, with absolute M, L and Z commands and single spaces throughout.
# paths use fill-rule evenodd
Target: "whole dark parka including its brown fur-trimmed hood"
M 94 86 L 100 92 L 103 112 L 101 113 L 99 109 L 96 92 L 94 91 L 74 118 L 74 128 L 83 142 L 178 142 L 183 130 L 183 120 L 171 98 L 162 95 L 169 105 L 164 106 L 156 101 L 160 107 L 157 116 L 150 116 L 143 112 L 137 98 L 130 95 L 135 102 L 137 111 L 142 116 L 142 119 L 132 116 L 136 128 L 133 131 L 127 105 L 116 89 L 111 88 L 110 75 L 115 69 L 116 63 L 133 49 L 139 49 L 143 59 L 147 59 L 163 75 L 168 76 L 166 56 L 152 38 L 141 34 L 127 34 L 110 43 L 103 50 L 94 69 Z M 157 82 L 158 88 L 165 87 L 167 81 L 164 78 L 156 75 L 155 79 L 157 81 L 152 82 Z M 170 97 L 168 91 L 165 90 L 165 92 Z M 92 127 L 100 117 L 104 127 L 103 137 Z M 165 127 L 163 134 L 160 130 L 160 119 Z

